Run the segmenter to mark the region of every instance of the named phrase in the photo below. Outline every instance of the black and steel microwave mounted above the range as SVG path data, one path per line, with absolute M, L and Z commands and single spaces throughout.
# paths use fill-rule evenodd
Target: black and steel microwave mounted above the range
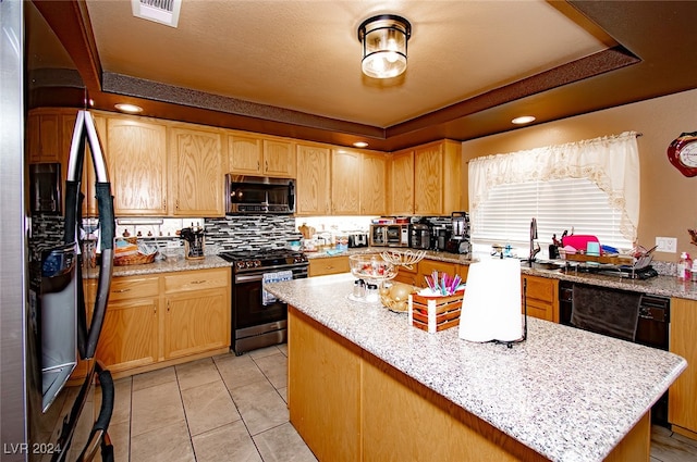
M 225 175 L 225 214 L 295 213 L 295 179 Z

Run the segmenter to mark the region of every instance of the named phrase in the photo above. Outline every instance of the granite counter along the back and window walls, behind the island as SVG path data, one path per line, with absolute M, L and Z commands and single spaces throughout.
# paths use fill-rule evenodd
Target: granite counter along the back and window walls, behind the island
M 365 254 L 365 253 L 380 253 L 384 250 L 413 250 L 407 248 L 386 248 L 386 247 L 360 247 L 355 249 L 348 249 L 346 252 L 339 253 L 339 255 L 352 255 L 352 254 Z M 320 259 L 326 257 L 337 257 L 321 253 L 311 252 L 307 253 L 308 259 Z M 426 251 L 426 259 L 436 260 L 447 263 L 456 264 L 472 264 L 479 261 L 478 258 L 472 258 L 470 255 L 462 255 L 449 252 L 436 252 L 432 250 Z M 595 286 L 610 287 L 622 290 L 633 290 L 643 294 L 651 294 L 664 297 L 677 297 L 688 300 L 697 300 L 697 283 L 689 280 L 678 280 L 674 276 L 659 275 L 646 280 L 620 278 L 589 273 L 578 273 L 570 271 L 567 273 L 555 270 L 538 270 L 527 267 L 525 264 L 521 266 L 523 274 L 531 276 L 542 276 L 559 280 L 570 280 L 572 283 L 590 284 Z

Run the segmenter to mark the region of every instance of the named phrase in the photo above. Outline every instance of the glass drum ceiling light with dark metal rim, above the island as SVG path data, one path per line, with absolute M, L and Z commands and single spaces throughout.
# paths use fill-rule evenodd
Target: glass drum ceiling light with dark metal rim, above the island
M 363 73 L 374 78 L 396 77 L 406 70 L 406 42 L 412 24 L 395 14 L 380 14 L 358 26 Z

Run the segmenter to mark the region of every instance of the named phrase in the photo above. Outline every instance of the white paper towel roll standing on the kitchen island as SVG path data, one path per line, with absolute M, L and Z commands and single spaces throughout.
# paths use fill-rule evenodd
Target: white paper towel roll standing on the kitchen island
M 460 315 L 460 338 L 515 341 L 523 337 L 521 262 L 482 260 L 469 265 Z

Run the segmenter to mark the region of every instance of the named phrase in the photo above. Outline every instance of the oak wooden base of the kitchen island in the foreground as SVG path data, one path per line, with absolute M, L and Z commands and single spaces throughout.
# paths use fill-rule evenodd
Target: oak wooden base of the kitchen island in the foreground
M 320 461 L 541 461 L 533 449 L 289 305 L 290 420 Z M 604 459 L 648 460 L 648 414 Z

